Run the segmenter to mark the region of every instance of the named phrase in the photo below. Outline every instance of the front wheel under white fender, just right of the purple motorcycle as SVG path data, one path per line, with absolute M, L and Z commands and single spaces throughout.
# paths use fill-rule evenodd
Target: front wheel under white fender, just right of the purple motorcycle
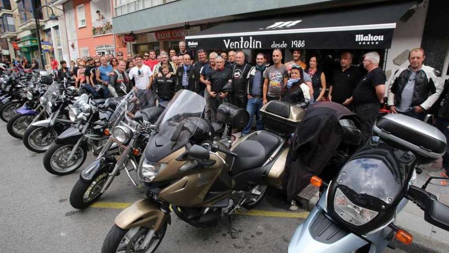
M 48 131 L 45 127 L 30 126 L 23 134 L 23 144 L 31 151 L 41 153 L 45 152 L 57 137 L 55 130 Z

